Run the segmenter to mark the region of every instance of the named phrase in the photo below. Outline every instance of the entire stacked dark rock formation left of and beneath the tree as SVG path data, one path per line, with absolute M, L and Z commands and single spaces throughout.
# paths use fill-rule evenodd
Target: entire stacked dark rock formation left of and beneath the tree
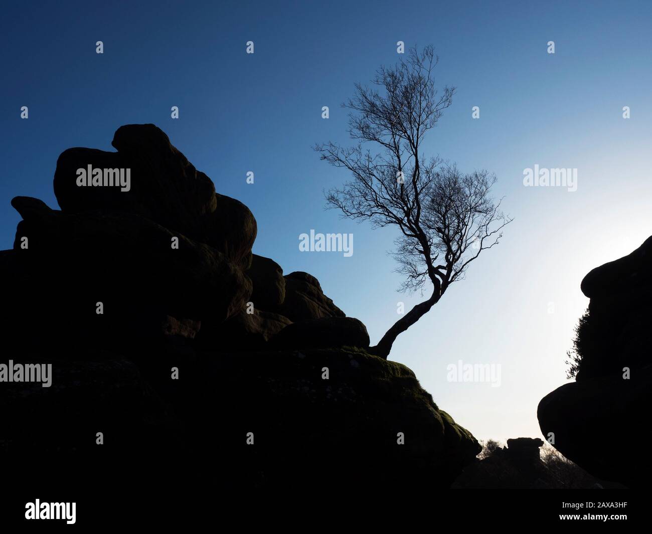
M 112 144 L 61 154 L 60 211 L 12 200 L 5 355 L 51 363 L 53 379 L 0 384 L 7 455 L 63 455 L 68 476 L 172 462 L 189 484 L 340 491 L 449 486 L 474 460 L 475 438 L 367 352 L 366 327 L 314 276 L 252 254 L 252 213 L 164 132 L 122 126 Z M 89 166 L 129 168 L 129 190 L 78 185 Z

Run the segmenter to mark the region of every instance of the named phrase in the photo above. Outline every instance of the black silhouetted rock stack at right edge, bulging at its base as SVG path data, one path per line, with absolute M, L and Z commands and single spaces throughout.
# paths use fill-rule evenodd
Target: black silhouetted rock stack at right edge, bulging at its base
M 578 331 L 576 382 L 541 400 L 539 426 L 589 473 L 628 486 L 647 484 L 647 464 L 625 458 L 644 458 L 652 438 L 642 423 L 652 409 L 652 237 L 629 256 L 593 269 L 582 291 L 591 301 Z

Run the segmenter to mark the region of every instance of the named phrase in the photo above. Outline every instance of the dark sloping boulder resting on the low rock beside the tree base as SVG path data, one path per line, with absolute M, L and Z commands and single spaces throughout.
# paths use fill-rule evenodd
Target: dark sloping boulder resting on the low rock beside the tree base
M 323 317 L 344 317 L 344 312 L 324 295 L 319 280 L 312 274 L 295 271 L 286 275 L 285 280 L 285 301 L 271 311 L 286 316 L 293 323 Z

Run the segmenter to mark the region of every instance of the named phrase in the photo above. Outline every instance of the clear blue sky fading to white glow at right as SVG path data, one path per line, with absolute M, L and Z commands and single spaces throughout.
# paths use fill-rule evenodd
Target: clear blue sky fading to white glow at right
M 409 309 L 420 295 L 396 292 L 393 230 L 324 210 L 323 189 L 349 176 L 311 147 L 348 141 L 339 104 L 397 61 L 398 40 L 433 44 L 437 82 L 458 92 L 426 151 L 495 172 L 514 222 L 390 358 L 477 438 L 539 436 L 537 404 L 565 383 L 587 305 L 582 277 L 652 233 L 651 26 L 649 1 L 4 2 L 0 247 L 20 220 L 13 196 L 57 207 L 63 150 L 113 150 L 118 126 L 155 123 L 218 192 L 252 210 L 254 252 L 317 276 L 375 344 L 397 303 Z M 576 168 L 577 190 L 525 187 L 535 164 Z M 300 252 L 311 229 L 353 233 L 353 255 Z M 500 386 L 447 381 L 459 360 L 499 364 Z

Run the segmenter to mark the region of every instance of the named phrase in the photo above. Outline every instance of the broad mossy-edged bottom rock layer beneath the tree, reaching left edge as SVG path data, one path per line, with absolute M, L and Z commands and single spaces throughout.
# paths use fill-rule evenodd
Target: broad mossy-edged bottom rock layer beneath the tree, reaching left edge
M 211 479 L 216 490 L 327 495 L 343 485 L 447 488 L 481 449 L 411 370 L 364 351 L 200 352 L 164 359 L 158 374 L 100 356 L 48 358 L 52 387 L 14 383 L 0 397 L 0 444 L 12 464 L 32 466 L 23 453 L 65 455 L 69 480 L 78 481 L 93 462 L 141 473 L 174 458 L 165 484 Z

